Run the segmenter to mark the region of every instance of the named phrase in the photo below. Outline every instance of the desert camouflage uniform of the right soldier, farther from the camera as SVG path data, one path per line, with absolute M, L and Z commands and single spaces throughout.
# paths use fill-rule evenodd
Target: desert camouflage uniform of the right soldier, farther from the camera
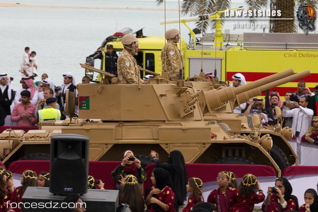
M 178 79 L 176 73 L 179 73 L 179 70 L 182 69 L 180 51 L 177 44 L 177 42 L 168 40 L 161 50 L 162 72 L 165 70 L 165 67 L 167 67 L 167 79 L 170 81 L 176 81 Z M 166 65 L 164 63 L 165 61 Z

